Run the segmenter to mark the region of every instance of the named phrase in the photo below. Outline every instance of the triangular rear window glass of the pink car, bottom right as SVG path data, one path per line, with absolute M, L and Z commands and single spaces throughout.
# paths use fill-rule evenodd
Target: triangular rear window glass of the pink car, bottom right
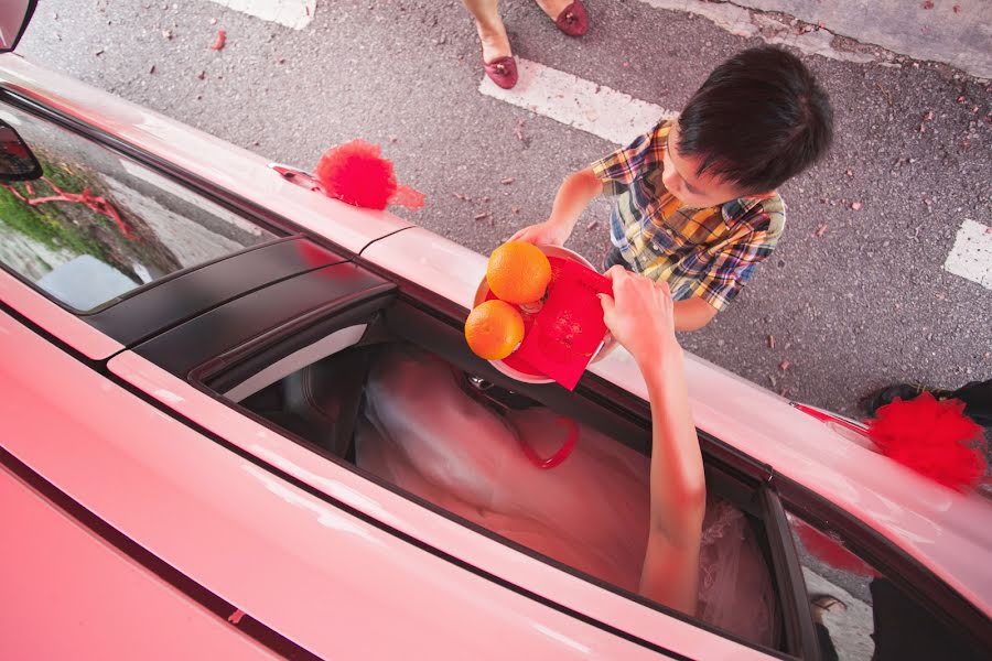
M 977 658 L 898 581 L 854 553 L 833 531 L 787 512 L 822 659 Z

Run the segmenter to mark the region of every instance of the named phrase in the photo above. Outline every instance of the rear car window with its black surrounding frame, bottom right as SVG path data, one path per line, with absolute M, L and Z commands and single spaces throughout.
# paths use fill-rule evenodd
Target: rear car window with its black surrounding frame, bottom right
M 796 552 L 826 659 L 983 659 L 988 618 L 918 561 L 815 492 L 783 477 L 778 534 Z

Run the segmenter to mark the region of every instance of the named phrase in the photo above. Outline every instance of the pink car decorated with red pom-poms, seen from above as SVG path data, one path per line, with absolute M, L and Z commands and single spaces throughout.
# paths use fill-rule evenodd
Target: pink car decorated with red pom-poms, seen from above
M 0 9 L 8 50 L 33 6 Z M 747 640 L 356 464 L 396 345 L 649 451 L 623 350 L 574 392 L 468 351 L 482 256 L 12 53 L 0 143 L 0 658 L 992 653 L 992 503 L 856 423 L 687 357 L 708 490 L 773 587 Z

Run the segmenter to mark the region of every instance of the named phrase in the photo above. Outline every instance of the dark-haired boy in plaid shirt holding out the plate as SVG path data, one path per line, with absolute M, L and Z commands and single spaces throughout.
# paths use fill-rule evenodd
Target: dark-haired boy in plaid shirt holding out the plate
M 744 51 L 678 119 L 568 176 L 548 220 L 511 240 L 561 246 L 593 197 L 615 195 L 604 268 L 667 282 L 676 329 L 701 328 L 772 254 L 785 225 L 775 189 L 827 151 L 832 124 L 827 94 L 797 57 Z

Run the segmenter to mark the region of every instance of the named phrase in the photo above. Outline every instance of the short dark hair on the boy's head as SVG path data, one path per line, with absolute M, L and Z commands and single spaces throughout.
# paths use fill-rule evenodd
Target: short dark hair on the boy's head
M 827 93 L 798 57 L 772 46 L 718 66 L 679 116 L 678 149 L 701 158 L 697 174 L 745 194 L 777 188 L 822 156 L 832 139 Z

